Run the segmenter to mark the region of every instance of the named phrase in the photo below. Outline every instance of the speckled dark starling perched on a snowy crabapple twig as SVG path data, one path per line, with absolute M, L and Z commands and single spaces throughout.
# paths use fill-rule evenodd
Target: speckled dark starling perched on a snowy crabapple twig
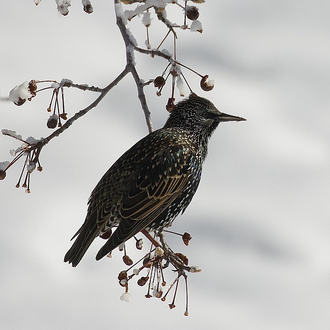
M 196 94 L 177 102 L 164 127 L 134 144 L 99 180 L 64 262 L 79 264 L 98 236 L 107 241 L 96 260 L 141 230 L 169 227 L 197 191 L 212 133 L 221 122 L 244 120 Z

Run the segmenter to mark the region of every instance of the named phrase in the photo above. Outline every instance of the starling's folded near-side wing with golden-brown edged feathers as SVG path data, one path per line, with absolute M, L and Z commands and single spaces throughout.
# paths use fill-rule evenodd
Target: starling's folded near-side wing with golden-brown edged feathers
M 150 226 L 192 180 L 189 149 L 171 148 L 145 159 L 119 208 L 121 221 L 97 255 L 104 257 L 122 242 Z

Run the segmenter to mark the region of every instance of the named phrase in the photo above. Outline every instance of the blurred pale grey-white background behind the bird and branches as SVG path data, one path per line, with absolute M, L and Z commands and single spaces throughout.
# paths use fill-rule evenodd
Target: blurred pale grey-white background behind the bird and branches
M 125 49 L 112 1 L 92 4 L 88 15 L 72 1 L 66 17 L 54 1 L 1 6 L 1 98 L 26 80 L 68 78 L 103 87 L 121 72 Z M 183 72 L 197 94 L 248 121 L 220 124 L 212 136 L 198 192 L 172 227 L 191 233 L 190 246 L 168 237 L 202 268 L 189 275 L 189 317 L 183 316 L 183 282 L 172 310 L 171 295 L 166 302 L 146 299 L 146 288 L 133 283 L 132 302 L 121 301 L 122 253 L 96 262 L 100 239 L 76 268 L 63 263 L 100 177 L 147 134 L 128 76 L 42 150 L 43 171 L 33 172 L 31 194 L 15 188 L 22 162 L 0 182 L 3 329 L 330 329 L 329 1 L 207 0 L 198 6 L 204 31 L 180 31 L 177 56 L 216 86 L 202 92 L 198 77 Z M 132 31 L 143 46 L 144 27 L 132 22 Z M 151 29 L 150 36 L 156 44 L 165 33 Z M 136 62 L 145 80 L 166 66 L 148 56 Z M 160 128 L 170 92 L 161 98 L 155 92 L 146 88 Z M 96 98 L 74 89 L 65 95 L 69 116 Z M 0 129 L 47 136 L 50 97 L 40 92 L 21 107 L 1 101 Z M 9 149 L 19 145 L 1 135 L 0 162 L 10 161 Z M 132 245 L 128 253 L 137 260 L 143 253 Z M 173 279 L 170 271 L 166 277 Z

